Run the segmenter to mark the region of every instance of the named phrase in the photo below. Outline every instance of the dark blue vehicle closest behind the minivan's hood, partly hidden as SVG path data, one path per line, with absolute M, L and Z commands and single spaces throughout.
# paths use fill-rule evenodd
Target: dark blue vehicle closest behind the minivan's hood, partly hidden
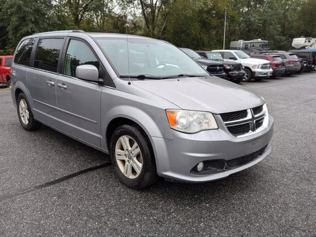
M 226 73 L 224 72 L 223 63 L 209 60 L 207 58 L 203 58 L 196 51 L 190 48 L 180 48 L 180 49 L 186 54 L 188 54 L 191 58 L 193 58 L 199 65 L 202 66 L 202 68 L 204 68 L 211 75 L 226 79 Z

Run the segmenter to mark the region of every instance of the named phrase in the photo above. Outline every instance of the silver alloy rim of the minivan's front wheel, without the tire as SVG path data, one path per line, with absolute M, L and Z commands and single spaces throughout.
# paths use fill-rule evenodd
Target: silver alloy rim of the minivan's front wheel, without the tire
M 129 179 L 139 176 L 143 168 L 143 158 L 137 142 L 130 136 L 119 137 L 115 146 L 115 158 L 119 170 Z

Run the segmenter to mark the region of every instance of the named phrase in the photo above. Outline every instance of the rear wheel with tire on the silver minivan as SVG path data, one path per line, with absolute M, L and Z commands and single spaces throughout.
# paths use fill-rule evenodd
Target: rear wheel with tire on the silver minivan
M 17 103 L 17 112 L 20 123 L 25 130 L 35 130 L 40 127 L 40 122 L 34 119 L 31 107 L 24 93 L 20 93 Z

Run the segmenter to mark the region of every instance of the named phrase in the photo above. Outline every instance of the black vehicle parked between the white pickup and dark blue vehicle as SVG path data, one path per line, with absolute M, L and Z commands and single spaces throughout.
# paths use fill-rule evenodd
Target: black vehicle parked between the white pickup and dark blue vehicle
M 241 63 L 224 61 L 222 55 L 218 52 L 212 51 L 196 51 L 202 57 L 207 59 L 221 62 L 224 65 L 224 72 L 227 74 L 226 79 L 239 83 L 242 81 L 242 78 L 245 76 L 245 71 L 243 71 L 243 66 Z

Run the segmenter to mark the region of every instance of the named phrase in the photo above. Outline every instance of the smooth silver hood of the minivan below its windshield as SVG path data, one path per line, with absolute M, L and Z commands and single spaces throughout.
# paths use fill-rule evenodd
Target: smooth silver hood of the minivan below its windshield
M 138 80 L 132 83 L 184 110 L 221 114 L 250 109 L 265 103 L 261 96 L 247 88 L 215 76 Z

